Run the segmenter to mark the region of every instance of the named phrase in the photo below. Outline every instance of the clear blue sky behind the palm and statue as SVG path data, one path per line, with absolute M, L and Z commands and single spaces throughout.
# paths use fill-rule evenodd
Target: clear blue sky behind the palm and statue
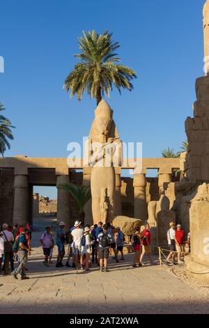
M 0 101 L 17 127 L 6 156 L 66 157 L 88 135 L 95 100 L 62 89 L 83 30 L 109 30 L 123 64 L 137 71 L 134 91 L 114 89 L 109 104 L 125 142 L 144 157 L 178 151 L 192 116 L 194 82 L 203 75 L 204 0 L 1 0 Z

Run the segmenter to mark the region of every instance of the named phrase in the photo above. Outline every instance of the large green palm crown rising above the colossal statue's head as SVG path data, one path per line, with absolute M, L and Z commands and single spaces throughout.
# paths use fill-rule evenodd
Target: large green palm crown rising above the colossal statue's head
M 71 90 L 70 96 L 77 94 L 82 99 L 84 91 L 91 98 L 102 100 L 104 94 L 109 97 L 112 84 L 121 94 L 121 88 L 132 90 L 130 82 L 137 74 L 131 68 L 116 64 L 121 61 L 115 50 L 120 47 L 118 42 L 111 40 L 112 33 L 104 31 L 103 34 L 95 31 L 85 32 L 79 38 L 81 54 L 75 54 L 80 62 L 65 79 L 63 88 Z

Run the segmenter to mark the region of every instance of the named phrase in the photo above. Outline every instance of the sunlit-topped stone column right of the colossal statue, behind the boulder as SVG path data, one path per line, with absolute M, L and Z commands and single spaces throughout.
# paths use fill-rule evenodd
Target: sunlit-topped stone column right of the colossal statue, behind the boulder
M 146 174 L 134 174 L 134 218 L 147 220 Z

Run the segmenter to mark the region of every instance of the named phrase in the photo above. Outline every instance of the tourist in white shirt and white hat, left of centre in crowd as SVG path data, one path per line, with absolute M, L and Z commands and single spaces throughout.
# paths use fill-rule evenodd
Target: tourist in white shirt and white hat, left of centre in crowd
M 74 224 L 75 229 L 72 230 L 72 238 L 73 238 L 73 245 L 72 245 L 72 253 L 75 260 L 75 267 L 76 271 L 78 270 L 78 258 L 81 255 L 82 246 L 82 236 L 84 233 L 84 229 L 82 229 L 82 223 L 80 221 L 75 221 Z

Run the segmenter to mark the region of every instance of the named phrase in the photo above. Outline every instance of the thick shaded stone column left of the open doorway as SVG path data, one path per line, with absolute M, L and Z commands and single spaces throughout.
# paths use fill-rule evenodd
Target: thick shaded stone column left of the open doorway
M 29 221 L 29 189 L 27 175 L 15 175 L 13 223 L 26 225 Z

